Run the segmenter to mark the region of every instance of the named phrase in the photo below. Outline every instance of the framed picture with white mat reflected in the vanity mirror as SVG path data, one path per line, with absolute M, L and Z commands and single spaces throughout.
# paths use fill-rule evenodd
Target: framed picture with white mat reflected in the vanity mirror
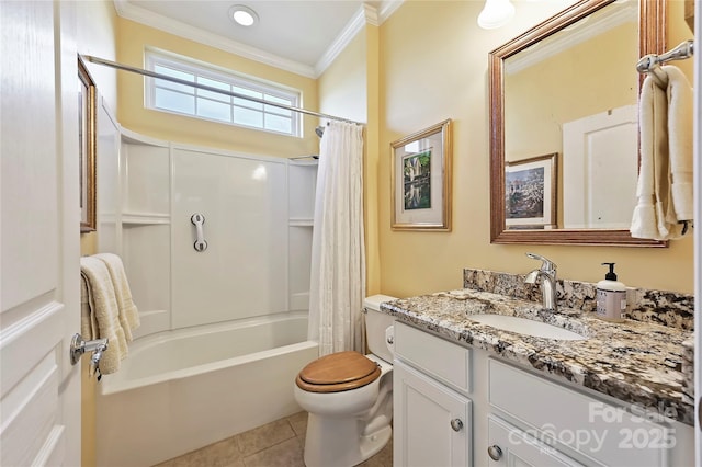
M 556 227 L 557 163 L 557 152 L 505 163 L 508 229 Z

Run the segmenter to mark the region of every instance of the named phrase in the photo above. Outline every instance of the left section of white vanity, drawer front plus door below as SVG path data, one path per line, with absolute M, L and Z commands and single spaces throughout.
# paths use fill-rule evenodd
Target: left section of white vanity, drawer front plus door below
M 469 349 L 395 324 L 395 466 L 473 465 L 469 384 Z

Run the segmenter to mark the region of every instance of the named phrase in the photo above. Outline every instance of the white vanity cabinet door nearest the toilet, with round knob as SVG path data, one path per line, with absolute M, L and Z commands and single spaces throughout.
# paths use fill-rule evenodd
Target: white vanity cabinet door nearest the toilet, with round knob
M 394 465 L 472 465 L 471 400 L 395 361 Z

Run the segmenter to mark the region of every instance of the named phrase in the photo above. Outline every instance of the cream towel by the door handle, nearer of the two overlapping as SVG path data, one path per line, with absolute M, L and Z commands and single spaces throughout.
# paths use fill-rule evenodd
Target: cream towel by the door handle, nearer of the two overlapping
M 110 272 L 101 260 L 83 257 L 80 259 L 80 275 L 84 281 L 84 286 L 81 286 L 81 293 L 84 294 L 81 297 L 81 332 L 86 331 L 83 339 L 107 338 L 107 350 L 100 358 L 100 372 L 105 375 L 114 373 L 127 355 L 127 340 L 120 323 Z

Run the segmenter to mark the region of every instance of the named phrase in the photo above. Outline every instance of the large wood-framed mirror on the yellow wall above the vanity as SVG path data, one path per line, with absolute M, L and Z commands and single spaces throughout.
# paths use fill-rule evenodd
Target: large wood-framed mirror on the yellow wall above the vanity
M 492 243 L 667 244 L 629 234 L 636 62 L 665 24 L 665 0 L 582 0 L 489 54 Z

